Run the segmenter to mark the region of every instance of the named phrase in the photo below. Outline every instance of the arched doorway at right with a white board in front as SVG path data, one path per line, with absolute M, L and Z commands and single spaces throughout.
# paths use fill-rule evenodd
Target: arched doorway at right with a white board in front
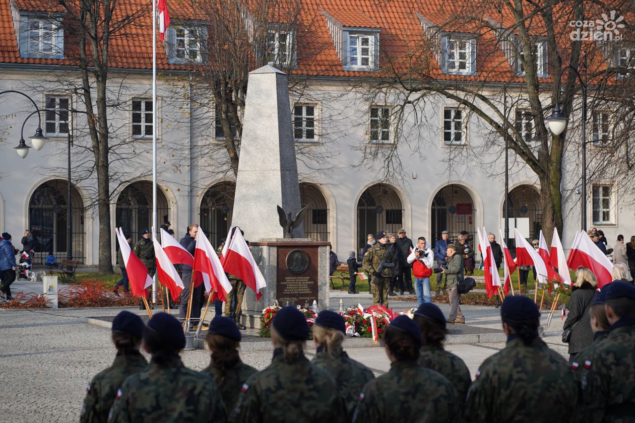
M 505 202 L 500 214 L 505 216 Z M 542 229 L 542 207 L 540 193 L 531 185 L 519 185 L 509 192 L 509 211 L 507 218 L 516 219 L 516 227 L 522 232 L 528 231 L 529 240 L 538 239 Z M 510 244 L 513 245 L 514 228 L 510 224 Z

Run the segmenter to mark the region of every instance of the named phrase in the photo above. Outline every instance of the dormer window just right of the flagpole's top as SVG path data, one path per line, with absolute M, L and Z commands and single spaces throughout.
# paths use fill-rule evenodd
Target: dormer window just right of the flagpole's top
M 201 63 L 207 40 L 207 29 L 201 23 L 183 23 L 168 27 L 168 61 Z

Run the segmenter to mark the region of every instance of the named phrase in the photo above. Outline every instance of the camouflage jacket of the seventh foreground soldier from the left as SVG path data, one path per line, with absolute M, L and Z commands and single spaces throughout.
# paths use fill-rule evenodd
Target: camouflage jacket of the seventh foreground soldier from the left
M 467 389 L 472 383 L 470 371 L 463 360 L 443 348 L 424 346 L 419 355 L 419 364 L 444 375 L 457 390 L 458 400 L 463 405 Z

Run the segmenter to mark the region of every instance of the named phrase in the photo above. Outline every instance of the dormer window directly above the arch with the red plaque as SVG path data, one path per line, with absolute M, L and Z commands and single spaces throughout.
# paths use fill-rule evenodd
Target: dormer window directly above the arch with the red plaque
M 476 38 L 471 35 L 447 34 L 441 39 L 441 51 L 444 74 L 476 73 Z

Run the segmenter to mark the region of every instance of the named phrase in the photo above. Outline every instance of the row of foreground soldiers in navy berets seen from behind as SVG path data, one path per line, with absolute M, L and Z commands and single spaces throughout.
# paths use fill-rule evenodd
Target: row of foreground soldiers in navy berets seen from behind
M 580 277 L 581 286 L 588 282 Z M 272 361 L 260 372 L 241 361 L 241 332 L 225 316 L 211 321 L 210 365 L 195 372 L 180 359 L 185 335 L 175 317 L 156 313 L 144 325 L 122 311 L 112 323 L 116 358 L 88 385 L 81 421 L 631 421 L 635 287 L 613 281 L 594 295 L 590 310 L 580 324 L 591 327 L 594 340 L 567 363 L 540 339 L 536 304 L 507 297 L 500 308 L 507 344 L 483 361 L 474 381 L 445 351 L 447 321 L 431 303 L 389 324 L 384 348 L 391 368 L 378 377 L 344 351 L 345 321 L 334 311 L 316 317 L 317 351 L 309 361 L 305 316 L 281 308 L 271 325 Z

